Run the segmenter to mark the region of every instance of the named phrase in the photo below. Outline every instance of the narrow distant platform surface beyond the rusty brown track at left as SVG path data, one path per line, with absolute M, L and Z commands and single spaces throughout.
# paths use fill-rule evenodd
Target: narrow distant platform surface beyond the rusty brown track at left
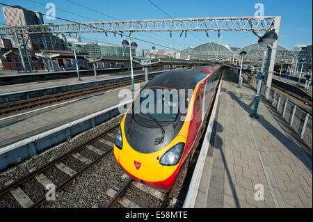
M 162 71 L 161 69 L 151 69 L 148 72 L 159 72 Z M 65 71 L 66 72 L 66 71 Z M 166 72 L 166 70 L 164 70 Z M 143 70 L 141 71 L 134 71 L 134 75 L 136 74 L 144 74 Z M 25 84 L 14 84 L 14 85 L 6 85 L 0 86 L 0 94 L 2 93 L 13 93 L 13 92 L 20 92 L 24 90 L 34 90 L 38 88 L 47 88 L 47 87 L 56 87 L 56 86 L 64 86 L 69 84 L 81 84 L 88 81 L 102 81 L 105 79 L 115 79 L 117 77 L 127 77 L 130 76 L 128 71 L 125 72 L 114 72 L 111 74 L 98 74 L 97 79 L 95 76 L 83 76 L 81 77 L 81 81 L 77 80 L 77 77 L 74 78 L 66 78 L 66 79 L 52 79 L 52 80 L 45 80 L 45 81 L 34 81 Z

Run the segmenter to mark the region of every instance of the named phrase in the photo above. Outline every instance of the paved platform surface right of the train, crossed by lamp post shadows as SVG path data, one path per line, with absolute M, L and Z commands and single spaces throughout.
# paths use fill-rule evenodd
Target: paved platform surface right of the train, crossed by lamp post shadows
M 237 88 L 238 72 L 222 84 L 195 207 L 312 207 L 312 150 L 263 99 L 259 119 L 249 117 L 255 90 Z

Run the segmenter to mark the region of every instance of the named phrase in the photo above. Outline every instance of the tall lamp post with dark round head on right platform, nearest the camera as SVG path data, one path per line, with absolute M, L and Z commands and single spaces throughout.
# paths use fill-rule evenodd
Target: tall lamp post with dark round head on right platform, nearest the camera
M 259 46 L 264 47 L 264 54 L 262 59 L 262 65 L 261 70 L 257 74 L 257 79 L 259 79 L 259 82 L 257 83 L 257 94 L 255 95 L 255 103 L 253 106 L 253 113 L 251 113 L 249 116 L 251 118 L 258 119 L 259 116 L 257 116 L 257 108 L 259 107 L 259 93 L 261 92 L 261 86 L 262 86 L 262 79 L 263 79 L 263 71 L 264 71 L 264 63 L 265 63 L 265 56 L 267 51 L 267 46 L 273 44 L 276 40 L 278 40 L 278 35 L 275 33 L 275 31 L 271 30 L 265 33 L 257 43 Z

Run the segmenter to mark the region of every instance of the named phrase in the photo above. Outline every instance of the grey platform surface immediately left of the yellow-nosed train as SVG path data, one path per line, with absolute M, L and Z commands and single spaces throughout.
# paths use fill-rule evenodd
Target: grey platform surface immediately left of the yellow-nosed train
M 122 88 L 131 90 L 131 86 Z M 118 97 L 122 88 L 1 118 L 0 148 L 119 104 L 125 100 L 124 97 Z

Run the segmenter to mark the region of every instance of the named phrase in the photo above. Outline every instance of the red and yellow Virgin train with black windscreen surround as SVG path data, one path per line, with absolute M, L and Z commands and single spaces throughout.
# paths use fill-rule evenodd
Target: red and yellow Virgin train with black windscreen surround
M 215 64 L 163 72 L 141 89 L 120 122 L 113 147 L 127 175 L 153 188 L 173 187 L 224 69 Z

